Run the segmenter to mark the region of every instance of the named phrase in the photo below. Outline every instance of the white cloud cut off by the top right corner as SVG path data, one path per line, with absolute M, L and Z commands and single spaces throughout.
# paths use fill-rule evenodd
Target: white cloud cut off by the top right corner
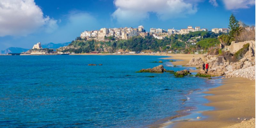
M 255 0 L 223 0 L 226 9 L 239 9 L 250 8 L 249 6 L 255 5 Z

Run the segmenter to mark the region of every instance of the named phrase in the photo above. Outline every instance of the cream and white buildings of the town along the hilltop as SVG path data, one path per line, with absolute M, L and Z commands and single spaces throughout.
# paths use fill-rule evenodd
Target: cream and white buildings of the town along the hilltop
M 154 36 L 157 39 L 164 39 L 166 36 L 171 35 L 183 35 L 188 34 L 189 32 L 196 32 L 196 31 L 208 31 L 207 28 L 200 28 L 195 27 L 192 28 L 192 26 L 188 26 L 186 29 L 167 29 L 164 30 L 162 28 L 150 28 L 150 31 L 147 32 L 142 25 L 140 25 L 138 28 L 101 28 L 100 30 L 92 30 L 92 31 L 84 31 L 81 33 L 80 38 L 81 40 L 89 40 L 89 39 L 95 39 L 97 41 L 106 41 L 106 39 L 122 39 L 122 40 L 128 40 L 132 36 Z M 213 33 L 228 33 L 228 28 L 213 28 Z

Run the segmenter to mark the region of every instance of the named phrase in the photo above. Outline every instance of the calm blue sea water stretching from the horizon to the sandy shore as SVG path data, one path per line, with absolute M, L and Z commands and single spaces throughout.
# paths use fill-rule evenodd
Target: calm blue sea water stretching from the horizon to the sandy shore
M 217 85 L 193 76 L 134 73 L 159 60 L 167 70 L 184 69 L 159 58 L 0 56 L 0 127 L 142 127 L 193 106 L 181 101 L 191 90 Z

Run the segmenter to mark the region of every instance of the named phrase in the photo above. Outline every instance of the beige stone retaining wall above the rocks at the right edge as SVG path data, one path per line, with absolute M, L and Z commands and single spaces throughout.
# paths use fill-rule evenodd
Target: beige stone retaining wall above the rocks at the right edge
M 255 51 L 255 41 L 244 41 L 244 42 L 235 42 L 232 41 L 230 46 L 225 46 L 224 49 L 228 50 L 231 53 L 237 52 L 239 49 L 243 48 L 244 44 L 250 44 L 250 47 Z

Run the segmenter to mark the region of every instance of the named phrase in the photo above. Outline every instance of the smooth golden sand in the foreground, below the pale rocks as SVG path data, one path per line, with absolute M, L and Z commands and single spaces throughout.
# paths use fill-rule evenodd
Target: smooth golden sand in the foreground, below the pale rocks
M 255 81 L 246 78 L 227 78 L 223 80 L 223 84 L 204 92 L 213 94 L 205 96 L 210 103 L 204 105 L 215 107 L 213 111 L 202 113 L 209 116 L 208 118 L 178 122 L 174 124 L 174 128 L 231 128 L 241 123 L 241 119 L 255 118 Z

